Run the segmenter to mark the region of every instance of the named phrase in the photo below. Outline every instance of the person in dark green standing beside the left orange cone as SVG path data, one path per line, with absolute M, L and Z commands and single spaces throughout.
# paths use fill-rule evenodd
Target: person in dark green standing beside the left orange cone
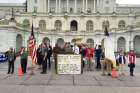
M 28 60 L 28 53 L 25 51 L 25 47 L 21 48 L 20 51 L 20 63 L 22 72 L 25 74 L 27 69 L 27 60 Z

